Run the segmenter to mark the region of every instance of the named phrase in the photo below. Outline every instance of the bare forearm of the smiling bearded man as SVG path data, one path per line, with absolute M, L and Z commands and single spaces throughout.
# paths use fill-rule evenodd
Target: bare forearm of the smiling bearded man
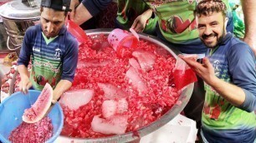
M 223 96 L 223 98 L 233 104 L 233 106 L 241 106 L 245 101 L 245 93 L 242 88 L 223 81 L 216 76 L 207 84 L 212 86 L 220 96 Z

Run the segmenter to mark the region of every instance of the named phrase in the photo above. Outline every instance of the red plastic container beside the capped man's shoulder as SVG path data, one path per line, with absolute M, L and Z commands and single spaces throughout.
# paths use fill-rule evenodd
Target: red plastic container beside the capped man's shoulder
M 84 30 L 75 22 L 68 20 L 68 22 L 66 22 L 66 26 L 68 31 L 78 40 L 78 42 L 86 42 L 88 40 Z

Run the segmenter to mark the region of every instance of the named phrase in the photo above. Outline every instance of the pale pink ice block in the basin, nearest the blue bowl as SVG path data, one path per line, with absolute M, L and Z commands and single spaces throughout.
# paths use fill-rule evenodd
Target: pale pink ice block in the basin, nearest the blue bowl
M 59 104 L 63 106 L 68 106 L 70 110 L 77 110 L 79 106 L 84 106 L 94 96 L 93 90 L 74 90 L 74 91 L 66 91 L 63 96 L 61 96 L 59 100 Z

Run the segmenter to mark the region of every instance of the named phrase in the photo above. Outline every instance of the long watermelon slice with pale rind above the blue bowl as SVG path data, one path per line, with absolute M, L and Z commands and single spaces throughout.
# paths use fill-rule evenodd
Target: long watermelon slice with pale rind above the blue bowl
M 37 101 L 33 105 L 26 109 L 23 113 L 23 121 L 27 123 L 35 123 L 40 121 L 51 106 L 51 101 L 54 97 L 54 91 L 49 83 L 46 83 L 43 91 L 38 96 Z

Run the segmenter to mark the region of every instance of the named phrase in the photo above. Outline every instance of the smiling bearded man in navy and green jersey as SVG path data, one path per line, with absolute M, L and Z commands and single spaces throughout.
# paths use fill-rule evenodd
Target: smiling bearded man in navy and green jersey
M 254 142 L 256 72 L 253 50 L 226 31 L 227 7 L 221 0 L 199 2 L 199 37 L 208 47 L 202 64 L 180 55 L 202 77 L 206 90 L 202 111 L 203 142 Z

